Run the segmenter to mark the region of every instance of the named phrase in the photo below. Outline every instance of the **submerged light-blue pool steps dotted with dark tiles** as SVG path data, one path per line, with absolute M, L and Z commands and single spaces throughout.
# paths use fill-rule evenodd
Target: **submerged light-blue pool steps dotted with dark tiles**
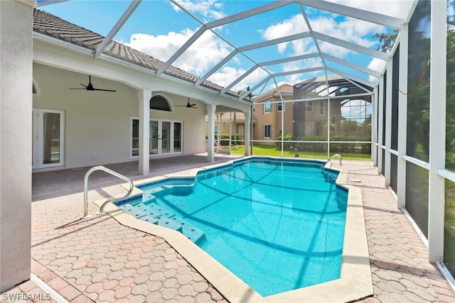
M 205 237 L 202 230 L 156 203 L 122 204 L 119 207 L 139 220 L 180 231 L 196 244 Z

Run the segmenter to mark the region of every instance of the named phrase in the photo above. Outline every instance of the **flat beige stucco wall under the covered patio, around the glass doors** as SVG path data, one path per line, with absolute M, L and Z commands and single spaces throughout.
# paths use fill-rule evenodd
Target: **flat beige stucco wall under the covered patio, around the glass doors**
M 63 167 L 105 165 L 135 160 L 132 156 L 132 119 L 139 118 L 137 89 L 121 82 L 92 77 L 94 87 L 117 92 L 87 92 L 83 88 L 88 75 L 56 67 L 33 64 L 33 80 L 38 94 L 33 94 L 34 109 L 65 112 L 65 162 Z M 183 154 L 205 150 L 205 105 L 194 101 L 197 109 L 185 105 L 186 98 L 169 92 L 160 94 L 171 103 L 172 111 L 150 110 L 150 119 L 181 121 Z M 191 131 L 190 131 L 191 130 Z M 152 155 L 153 157 L 154 155 Z

